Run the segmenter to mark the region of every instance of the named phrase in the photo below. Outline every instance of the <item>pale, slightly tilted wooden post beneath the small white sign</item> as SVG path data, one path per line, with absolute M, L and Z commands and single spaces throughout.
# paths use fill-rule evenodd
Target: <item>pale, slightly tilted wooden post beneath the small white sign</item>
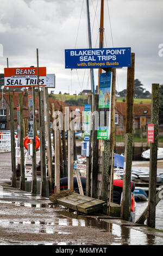
M 43 101 L 45 114 L 45 132 L 47 142 L 47 166 L 48 166 L 48 188 L 49 194 L 52 194 L 52 147 L 51 147 L 51 130 L 49 127 L 49 104 L 48 104 L 48 88 L 43 87 Z

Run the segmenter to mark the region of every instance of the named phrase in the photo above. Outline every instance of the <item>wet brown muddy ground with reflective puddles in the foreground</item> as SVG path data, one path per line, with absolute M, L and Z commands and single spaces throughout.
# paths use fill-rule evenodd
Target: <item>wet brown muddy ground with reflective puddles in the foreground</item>
M 162 245 L 163 232 L 85 216 L 0 181 L 0 245 Z

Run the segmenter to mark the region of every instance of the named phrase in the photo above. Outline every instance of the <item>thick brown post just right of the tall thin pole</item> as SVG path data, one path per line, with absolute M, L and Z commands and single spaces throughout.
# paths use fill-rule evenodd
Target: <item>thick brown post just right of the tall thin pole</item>
M 45 115 L 43 107 L 43 92 L 40 94 L 40 159 L 41 159 L 41 186 L 40 193 L 46 197 L 46 156 L 45 156 Z

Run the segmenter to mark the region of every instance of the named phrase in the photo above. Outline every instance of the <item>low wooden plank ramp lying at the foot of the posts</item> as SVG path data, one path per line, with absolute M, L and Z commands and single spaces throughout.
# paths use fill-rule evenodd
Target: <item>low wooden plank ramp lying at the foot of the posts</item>
M 90 214 L 91 212 L 103 210 L 107 206 L 102 200 L 81 196 L 80 194 L 74 192 L 70 196 L 57 199 L 57 202 L 60 205 L 72 210 L 83 212 L 84 214 Z

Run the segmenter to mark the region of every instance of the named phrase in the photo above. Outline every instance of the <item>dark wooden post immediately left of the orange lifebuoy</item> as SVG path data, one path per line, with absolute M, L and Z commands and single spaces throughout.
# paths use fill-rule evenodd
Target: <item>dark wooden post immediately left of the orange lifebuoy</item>
M 20 152 L 21 152 L 20 189 L 25 190 L 24 139 L 23 139 L 23 95 L 22 94 L 18 94 L 18 103 L 20 106 Z

